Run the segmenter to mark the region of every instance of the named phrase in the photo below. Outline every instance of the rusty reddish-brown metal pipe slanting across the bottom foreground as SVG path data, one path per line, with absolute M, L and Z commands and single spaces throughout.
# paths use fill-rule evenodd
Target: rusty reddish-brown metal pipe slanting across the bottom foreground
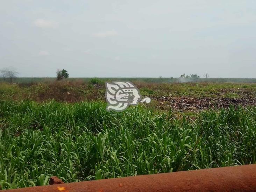
M 28 187 L 10 191 L 256 191 L 256 164 Z

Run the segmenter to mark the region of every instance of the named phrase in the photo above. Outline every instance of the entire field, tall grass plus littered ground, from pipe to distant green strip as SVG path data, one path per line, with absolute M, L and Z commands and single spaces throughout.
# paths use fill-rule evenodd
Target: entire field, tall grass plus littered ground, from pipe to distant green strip
M 255 84 L 135 84 L 152 104 L 107 112 L 103 85 L 1 83 L 1 189 L 255 163 Z

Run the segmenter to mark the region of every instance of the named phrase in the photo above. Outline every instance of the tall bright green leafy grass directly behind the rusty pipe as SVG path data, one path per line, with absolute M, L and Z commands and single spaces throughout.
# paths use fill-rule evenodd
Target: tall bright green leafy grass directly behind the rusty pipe
M 145 90 L 147 91 L 147 90 Z M 102 102 L 1 101 L 2 189 L 255 163 L 256 107 L 174 118 Z

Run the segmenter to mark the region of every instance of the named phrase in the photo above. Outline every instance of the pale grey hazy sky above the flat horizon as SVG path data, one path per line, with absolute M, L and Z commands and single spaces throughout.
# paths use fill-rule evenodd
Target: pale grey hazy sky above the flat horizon
M 256 78 L 255 34 L 255 0 L 2 0 L 0 69 Z

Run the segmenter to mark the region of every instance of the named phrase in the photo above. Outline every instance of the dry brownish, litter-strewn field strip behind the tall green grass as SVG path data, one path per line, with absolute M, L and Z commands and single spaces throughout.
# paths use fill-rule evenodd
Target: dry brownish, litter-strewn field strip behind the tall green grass
M 0 83 L 1 100 L 34 101 L 105 101 L 105 81 L 99 84 L 76 80 L 43 81 L 41 83 Z M 195 106 L 194 111 L 233 105 L 256 105 L 256 83 L 147 83 L 133 81 L 140 89 L 142 97 L 150 97 L 152 102 L 145 107 L 151 111 L 186 112 Z M 190 110 L 191 111 L 191 110 Z

